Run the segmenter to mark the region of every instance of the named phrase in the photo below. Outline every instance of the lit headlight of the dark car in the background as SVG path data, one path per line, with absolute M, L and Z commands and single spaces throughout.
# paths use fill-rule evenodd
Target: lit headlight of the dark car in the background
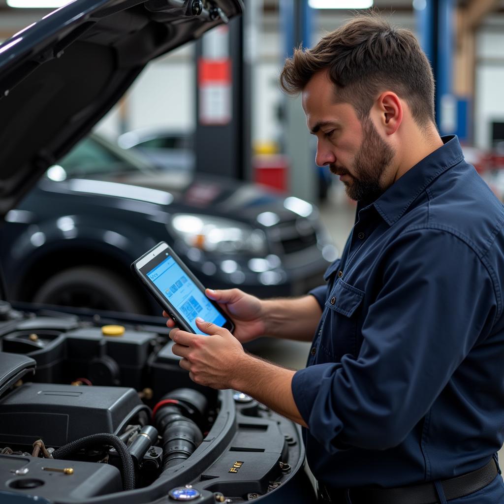
M 265 255 L 266 236 L 247 224 L 206 215 L 175 214 L 172 231 L 191 247 L 219 254 Z

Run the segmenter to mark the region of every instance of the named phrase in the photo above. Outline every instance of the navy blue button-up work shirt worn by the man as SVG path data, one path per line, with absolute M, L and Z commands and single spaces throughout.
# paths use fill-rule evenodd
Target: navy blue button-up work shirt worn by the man
M 357 207 L 292 381 L 314 475 L 394 487 L 485 465 L 504 430 L 504 208 L 456 137 Z

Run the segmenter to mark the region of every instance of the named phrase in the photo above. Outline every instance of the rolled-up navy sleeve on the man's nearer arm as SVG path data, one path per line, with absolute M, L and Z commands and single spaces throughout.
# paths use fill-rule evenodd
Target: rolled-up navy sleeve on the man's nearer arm
M 292 381 L 310 434 L 329 453 L 399 445 L 497 316 L 492 272 L 461 237 L 410 230 L 382 257 L 358 355 L 301 369 Z

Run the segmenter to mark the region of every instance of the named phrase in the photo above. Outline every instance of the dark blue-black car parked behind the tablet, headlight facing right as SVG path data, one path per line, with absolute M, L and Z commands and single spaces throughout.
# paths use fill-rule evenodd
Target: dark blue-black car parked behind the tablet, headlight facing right
M 159 170 L 97 135 L 49 167 L 6 221 L 9 298 L 51 305 L 158 313 L 130 264 L 162 240 L 204 285 L 269 297 L 318 285 L 335 254 L 311 204 Z

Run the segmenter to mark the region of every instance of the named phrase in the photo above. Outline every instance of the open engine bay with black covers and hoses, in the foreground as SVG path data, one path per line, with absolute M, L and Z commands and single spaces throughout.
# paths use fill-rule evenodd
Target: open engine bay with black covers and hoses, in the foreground
M 193 383 L 162 320 L 116 315 L 0 302 L 1 501 L 313 499 L 296 424 Z

